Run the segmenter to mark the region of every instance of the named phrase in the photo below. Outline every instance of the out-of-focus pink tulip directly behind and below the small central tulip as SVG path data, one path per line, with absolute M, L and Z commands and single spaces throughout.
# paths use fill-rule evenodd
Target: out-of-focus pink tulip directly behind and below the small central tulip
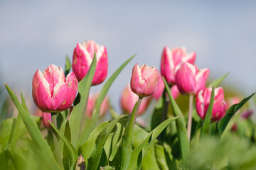
M 139 96 L 134 94 L 129 85 L 125 86 L 121 95 L 121 106 L 124 113 L 132 113 L 132 109 L 134 108 L 135 103 L 138 101 Z M 143 115 L 144 111 L 146 111 L 147 106 L 149 106 L 150 98 L 143 98 L 141 106 L 139 107 L 138 115 Z

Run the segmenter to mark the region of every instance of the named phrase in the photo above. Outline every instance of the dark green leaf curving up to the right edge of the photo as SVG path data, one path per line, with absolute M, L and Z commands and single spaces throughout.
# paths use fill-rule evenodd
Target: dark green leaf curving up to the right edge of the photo
M 250 96 L 248 96 L 247 98 L 242 99 L 242 101 L 240 101 L 240 103 L 234 104 L 233 106 L 231 106 L 230 108 L 228 108 L 228 111 L 226 112 L 226 114 L 223 116 L 223 118 L 220 119 L 220 122 L 218 123 L 218 131 L 220 132 L 220 135 L 223 134 L 225 128 L 227 127 L 230 119 L 233 117 L 233 115 L 247 102 L 249 101 L 249 99 L 255 95 L 252 94 Z

